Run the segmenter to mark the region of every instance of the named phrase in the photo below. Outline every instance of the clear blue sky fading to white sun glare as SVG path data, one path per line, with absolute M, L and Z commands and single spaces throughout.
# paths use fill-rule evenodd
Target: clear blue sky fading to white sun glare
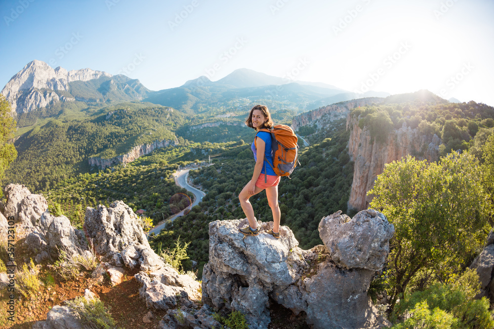
M 0 85 L 32 60 L 151 90 L 236 69 L 494 106 L 493 0 L 0 0 Z

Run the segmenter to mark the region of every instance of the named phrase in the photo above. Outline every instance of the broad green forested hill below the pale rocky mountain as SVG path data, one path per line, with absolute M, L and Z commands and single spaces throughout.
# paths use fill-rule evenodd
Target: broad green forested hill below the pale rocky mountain
M 35 125 L 15 142 L 19 156 L 9 167 L 7 181 L 23 183 L 32 191 L 47 190 L 88 172 L 90 156 L 111 158 L 132 146 L 174 139 L 171 130 L 184 123 L 178 111 L 154 105 L 126 103 L 100 113 L 85 119 L 51 118 Z

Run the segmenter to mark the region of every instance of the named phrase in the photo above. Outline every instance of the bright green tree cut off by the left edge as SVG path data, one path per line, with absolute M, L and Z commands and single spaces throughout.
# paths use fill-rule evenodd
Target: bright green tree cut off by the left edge
M 9 141 L 13 137 L 16 122 L 12 117 L 10 104 L 0 94 L 0 183 L 5 177 L 5 170 L 17 157 L 17 150 Z M 0 190 L 0 195 L 3 194 Z

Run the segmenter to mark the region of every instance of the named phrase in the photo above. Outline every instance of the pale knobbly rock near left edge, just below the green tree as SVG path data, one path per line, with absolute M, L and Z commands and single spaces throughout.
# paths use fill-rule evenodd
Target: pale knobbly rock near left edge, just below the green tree
M 41 215 L 48 209 L 46 199 L 39 194 L 31 194 L 24 185 L 8 184 L 5 186 L 5 217 L 13 216 L 14 221 L 23 226 L 34 226 Z

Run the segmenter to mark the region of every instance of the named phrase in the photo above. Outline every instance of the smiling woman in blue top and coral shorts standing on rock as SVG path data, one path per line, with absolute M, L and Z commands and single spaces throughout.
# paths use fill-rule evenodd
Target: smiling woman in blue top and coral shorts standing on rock
M 240 232 L 247 235 L 259 234 L 257 221 L 254 217 L 254 210 L 248 199 L 262 190 L 266 190 L 268 204 L 273 213 L 273 229 L 267 233 L 275 238 L 280 238 L 280 207 L 278 206 L 278 183 L 280 176 L 273 171 L 273 156 L 271 151 L 271 134 L 259 129 L 273 127 L 271 114 L 264 105 L 256 105 L 250 110 L 246 124 L 248 127 L 255 129 L 257 132 L 251 149 L 254 153 L 255 167 L 252 179 L 245 185 L 239 194 L 240 205 L 246 214 L 249 227 L 239 228 Z M 269 163 L 268 163 L 269 162 Z

